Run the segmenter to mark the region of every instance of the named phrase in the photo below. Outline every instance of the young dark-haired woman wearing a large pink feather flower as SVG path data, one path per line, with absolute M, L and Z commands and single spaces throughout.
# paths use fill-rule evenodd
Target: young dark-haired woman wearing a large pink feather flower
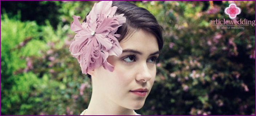
M 92 80 L 92 97 L 81 115 L 138 115 L 156 76 L 162 28 L 147 9 L 122 1 L 95 3 L 70 46 L 82 73 Z

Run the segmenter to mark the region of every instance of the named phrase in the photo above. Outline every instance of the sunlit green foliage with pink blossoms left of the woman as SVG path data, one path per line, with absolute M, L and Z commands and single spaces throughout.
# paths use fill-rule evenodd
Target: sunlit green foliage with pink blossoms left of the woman
M 72 115 L 87 106 L 77 105 L 87 103 L 90 89 L 80 95 L 88 79 L 70 57 L 67 25 L 55 31 L 46 24 L 1 19 L 2 115 Z

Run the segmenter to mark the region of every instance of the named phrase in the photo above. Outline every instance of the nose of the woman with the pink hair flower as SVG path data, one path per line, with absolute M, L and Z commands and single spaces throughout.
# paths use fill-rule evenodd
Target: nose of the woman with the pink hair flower
M 150 70 L 147 66 L 147 63 L 140 64 L 137 75 L 136 75 L 136 80 L 140 82 L 147 82 L 152 78 Z

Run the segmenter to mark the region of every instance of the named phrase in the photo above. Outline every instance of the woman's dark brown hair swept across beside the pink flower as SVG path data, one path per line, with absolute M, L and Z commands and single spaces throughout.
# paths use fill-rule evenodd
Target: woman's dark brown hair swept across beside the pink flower
M 135 4 L 125 1 L 113 1 L 112 6 L 117 7 L 116 15 L 124 14 L 126 17 L 126 23 L 117 30 L 117 34 L 121 35 L 118 39 L 119 42 L 124 37 L 136 32 L 137 29 L 143 29 L 156 36 L 159 50 L 163 48 L 163 28 L 152 13 L 145 8 L 137 7 Z

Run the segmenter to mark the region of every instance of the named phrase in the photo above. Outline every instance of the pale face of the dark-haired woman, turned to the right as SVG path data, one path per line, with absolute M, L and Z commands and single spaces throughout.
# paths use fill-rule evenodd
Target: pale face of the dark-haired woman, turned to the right
M 93 91 L 100 91 L 100 99 L 104 99 L 108 106 L 140 109 L 156 76 L 157 40 L 151 33 L 139 29 L 122 40 L 120 46 L 123 49 L 121 56 L 107 59 L 115 67 L 113 72 L 102 66 L 95 69 Z

